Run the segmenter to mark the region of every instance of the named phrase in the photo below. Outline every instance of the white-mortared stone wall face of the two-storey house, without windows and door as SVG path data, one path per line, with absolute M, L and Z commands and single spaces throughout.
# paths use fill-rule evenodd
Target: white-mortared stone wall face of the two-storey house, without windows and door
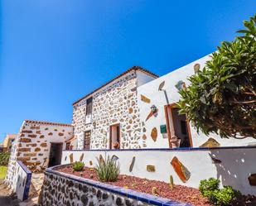
M 138 79 L 132 70 L 114 83 L 92 94 L 92 123 L 85 124 L 86 98 L 76 103 L 73 112 L 75 136 L 78 137 L 78 149 L 84 148 L 85 131 L 91 131 L 90 149 L 109 148 L 109 127 L 120 123 L 120 148 L 142 148 L 142 122 L 139 118 Z

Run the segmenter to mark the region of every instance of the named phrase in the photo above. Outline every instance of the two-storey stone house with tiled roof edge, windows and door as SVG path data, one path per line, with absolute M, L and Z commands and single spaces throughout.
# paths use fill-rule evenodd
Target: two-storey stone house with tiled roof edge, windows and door
M 73 103 L 77 149 L 142 148 L 137 88 L 157 77 L 133 66 Z

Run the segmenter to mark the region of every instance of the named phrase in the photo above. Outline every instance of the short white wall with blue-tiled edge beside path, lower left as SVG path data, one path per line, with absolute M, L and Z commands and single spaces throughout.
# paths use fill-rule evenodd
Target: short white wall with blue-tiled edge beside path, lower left
M 30 184 L 31 171 L 21 161 L 17 161 L 17 171 L 12 184 L 12 188 L 17 194 L 17 199 L 23 201 L 28 198 Z

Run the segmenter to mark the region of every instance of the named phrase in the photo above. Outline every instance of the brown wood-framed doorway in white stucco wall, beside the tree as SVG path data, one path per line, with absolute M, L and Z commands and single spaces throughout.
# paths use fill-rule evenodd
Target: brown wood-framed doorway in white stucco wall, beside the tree
M 191 147 L 190 124 L 185 114 L 179 114 L 179 110 L 176 108 L 176 103 L 165 106 L 169 146 Z

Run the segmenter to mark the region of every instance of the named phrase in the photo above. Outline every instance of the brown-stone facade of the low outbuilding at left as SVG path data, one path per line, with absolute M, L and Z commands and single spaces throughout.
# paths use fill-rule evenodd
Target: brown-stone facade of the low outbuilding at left
M 73 127 L 67 124 L 24 121 L 12 143 L 7 170 L 7 183 L 12 185 L 16 175 L 17 160 L 27 165 L 32 172 L 45 170 L 49 163 L 51 142 L 63 143 L 73 136 Z

